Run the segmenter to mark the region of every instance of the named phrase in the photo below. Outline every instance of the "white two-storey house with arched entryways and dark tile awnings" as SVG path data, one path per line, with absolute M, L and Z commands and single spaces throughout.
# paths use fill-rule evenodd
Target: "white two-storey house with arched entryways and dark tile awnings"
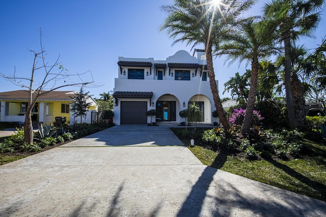
M 200 123 L 219 122 L 212 117 L 215 106 L 205 50 L 195 49 L 193 56 L 180 50 L 166 60 L 119 57 L 118 66 L 113 94 L 116 125 L 146 125 L 150 109 L 158 112 L 156 122 L 177 124 L 184 121 L 179 112 L 191 102 L 202 111 Z

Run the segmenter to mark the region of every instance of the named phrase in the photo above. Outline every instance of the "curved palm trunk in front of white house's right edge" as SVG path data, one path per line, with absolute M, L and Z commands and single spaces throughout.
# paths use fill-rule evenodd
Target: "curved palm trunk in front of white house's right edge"
M 210 89 L 212 91 L 216 112 L 218 112 L 219 114 L 220 122 L 222 123 L 224 130 L 229 131 L 230 124 L 224 112 L 220 95 L 219 95 L 218 86 L 216 85 L 215 73 L 213 68 L 212 48 L 209 46 L 206 46 L 206 59 L 207 59 L 207 71 L 209 77 L 209 84 L 210 84 Z

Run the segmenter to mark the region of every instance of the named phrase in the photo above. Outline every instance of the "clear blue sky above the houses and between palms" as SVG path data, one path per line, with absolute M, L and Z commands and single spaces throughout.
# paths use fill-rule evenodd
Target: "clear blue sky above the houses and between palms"
M 248 15 L 259 15 L 258 4 Z M 191 46 L 177 43 L 172 45 L 166 32 L 159 32 L 166 14 L 161 5 L 172 5 L 173 0 L 57 0 L 57 1 L 0 1 L 0 72 L 18 76 L 30 76 L 33 55 L 29 51 L 40 51 L 39 28 L 49 64 L 60 55 L 59 62 L 70 73 L 92 72 L 98 87 L 87 88 L 94 98 L 113 90 L 114 78 L 118 76 L 118 56 L 165 60 L 178 50 L 191 51 Z M 326 35 L 326 16 L 315 33 L 316 39 L 300 40 L 309 48 L 317 47 Z M 203 47 L 196 47 L 203 49 Z M 216 79 L 222 95 L 223 84 L 236 72 L 243 74 L 242 63 L 228 66 L 225 57 L 214 60 Z M 42 74 L 43 71 L 39 71 Z M 90 81 L 91 78 L 86 78 Z M 0 92 L 21 89 L 0 77 Z M 37 83 L 37 82 L 36 82 Z M 78 87 L 60 90 L 79 90 Z M 227 93 L 222 97 L 229 96 Z

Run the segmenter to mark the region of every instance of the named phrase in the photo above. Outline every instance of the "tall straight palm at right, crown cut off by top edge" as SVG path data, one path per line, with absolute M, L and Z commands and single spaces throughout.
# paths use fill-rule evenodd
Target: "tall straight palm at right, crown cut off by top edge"
M 264 6 L 264 15 L 269 20 L 269 25 L 275 28 L 279 41 L 284 43 L 284 84 L 291 129 L 298 126 L 291 88 L 291 43 L 301 36 L 312 34 L 319 23 L 319 10 L 323 3 L 323 0 L 274 0 Z

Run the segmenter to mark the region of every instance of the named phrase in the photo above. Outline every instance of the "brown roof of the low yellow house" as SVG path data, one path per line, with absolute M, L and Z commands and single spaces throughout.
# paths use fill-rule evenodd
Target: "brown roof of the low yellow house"
M 48 94 L 40 96 L 38 101 L 67 101 L 74 97 L 76 91 L 50 91 Z M 14 90 L 0 92 L 0 100 L 28 100 L 28 90 Z

